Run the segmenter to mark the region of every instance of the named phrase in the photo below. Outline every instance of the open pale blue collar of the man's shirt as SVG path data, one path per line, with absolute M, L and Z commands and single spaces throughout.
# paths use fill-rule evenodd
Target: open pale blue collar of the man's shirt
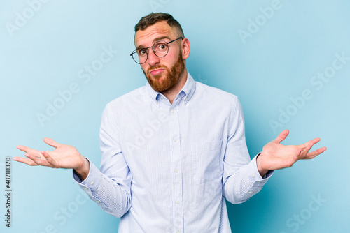
M 193 77 L 190 75 L 189 72 L 187 72 L 186 84 L 183 86 L 181 91 L 178 93 L 178 95 L 181 92 L 183 92 L 185 94 L 185 96 L 186 96 L 185 105 L 188 103 L 190 98 L 193 96 L 193 93 L 195 93 L 195 89 L 196 89 L 195 80 L 193 80 Z M 146 93 L 148 93 L 148 96 L 151 97 L 152 102 L 155 103 L 156 105 L 158 105 L 158 98 L 160 98 L 160 96 L 162 96 L 162 93 L 159 93 L 158 91 L 153 90 L 153 88 L 151 87 L 151 85 L 148 82 L 146 83 Z

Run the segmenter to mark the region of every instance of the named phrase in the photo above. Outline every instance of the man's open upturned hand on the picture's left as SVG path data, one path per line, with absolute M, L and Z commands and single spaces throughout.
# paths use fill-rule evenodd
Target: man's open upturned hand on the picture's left
M 85 179 L 89 174 L 89 161 L 82 156 L 74 146 L 59 144 L 54 140 L 45 137 L 43 140 L 46 144 L 55 147 L 53 151 L 37 151 L 27 146 L 17 146 L 21 151 L 25 151 L 25 156 L 14 157 L 13 160 L 25 163 L 31 166 L 46 166 L 53 168 L 72 168 L 80 175 L 81 179 Z

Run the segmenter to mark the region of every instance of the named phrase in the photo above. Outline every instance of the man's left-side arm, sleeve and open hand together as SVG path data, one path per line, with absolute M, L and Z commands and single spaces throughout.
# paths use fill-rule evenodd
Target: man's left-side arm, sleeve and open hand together
M 90 199 L 107 213 L 121 217 L 132 204 L 132 176 L 119 146 L 116 125 L 111 123 L 114 121 L 111 121 L 110 117 L 109 111 L 105 110 L 100 130 L 101 172 L 75 147 L 58 144 L 49 138 L 45 138 L 44 142 L 55 147 L 55 150 L 37 151 L 27 146 L 18 146 L 18 149 L 26 152 L 27 158 L 15 157 L 13 160 L 31 166 L 72 168 L 73 178 Z

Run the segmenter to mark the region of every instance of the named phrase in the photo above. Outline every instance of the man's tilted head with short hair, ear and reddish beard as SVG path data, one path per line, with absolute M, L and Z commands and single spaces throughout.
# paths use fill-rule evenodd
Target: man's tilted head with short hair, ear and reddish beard
M 165 42 L 162 46 L 165 45 L 168 49 L 164 57 L 153 52 L 155 47 L 152 46 L 160 40 Z M 175 41 L 171 42 L 172 40 Z M 186 59 L 190 54 L 190 42 L 184 38 L 181 25 L 172 15 L 151 13 L 142 17 L 135 26 L 134 43 L 136 52 L 146 54 L 147 60 L 141 63 L 141 68 L 155 91 L 171 91 L 186 82 Z

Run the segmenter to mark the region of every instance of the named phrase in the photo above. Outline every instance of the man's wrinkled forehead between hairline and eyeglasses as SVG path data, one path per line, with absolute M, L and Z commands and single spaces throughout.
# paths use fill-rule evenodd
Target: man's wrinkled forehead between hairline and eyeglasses
M 173 35 L 174 29 L 170 27 L 167 22 L 157 22 L 147 27 L 145 30 L 139 30 L 135 33 L 135 47 L 151 46 L 158 38 L 172 38 Z

